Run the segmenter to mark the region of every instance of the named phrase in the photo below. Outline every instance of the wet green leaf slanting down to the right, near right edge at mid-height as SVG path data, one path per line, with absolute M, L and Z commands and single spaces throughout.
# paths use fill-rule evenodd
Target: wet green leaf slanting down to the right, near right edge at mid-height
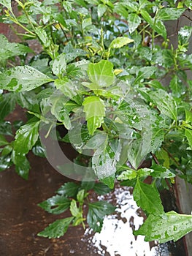
M 177 105 L 170 94 L 158 89 L 158 91 L 150 91 L 149 95 L 162 114 L 177 121 Z

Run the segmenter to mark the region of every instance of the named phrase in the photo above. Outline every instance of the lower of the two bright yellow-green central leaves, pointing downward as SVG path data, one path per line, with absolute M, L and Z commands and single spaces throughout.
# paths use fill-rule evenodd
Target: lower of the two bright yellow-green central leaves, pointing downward
M 88 121 L 88 131 L 90 135 L 93 135 L 96 129 L 101 127 L 101 124 L 104 122 L 104 101 L 99 97 L 91 96 L 86 97 L 82 105 L 84 106 L 85 119 Z

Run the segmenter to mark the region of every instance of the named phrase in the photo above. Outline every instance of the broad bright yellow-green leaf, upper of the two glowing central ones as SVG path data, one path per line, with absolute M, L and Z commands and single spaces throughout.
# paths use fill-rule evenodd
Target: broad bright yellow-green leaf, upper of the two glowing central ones
M 115 76 L 113 74 L 113 64 L 110 61 L 99 61 L 96 64 L 88 65 L 88 77 L 93 83 L 93 89 L 111 86 Z

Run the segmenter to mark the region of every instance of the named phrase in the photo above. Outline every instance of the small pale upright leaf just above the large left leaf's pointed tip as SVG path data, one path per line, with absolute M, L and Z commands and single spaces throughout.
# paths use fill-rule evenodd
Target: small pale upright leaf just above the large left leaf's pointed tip
M 52 71 L 55 75 L 63 75 L 66 71 L 66 59 L 65 53 L 61 53 L 56 59 L 51 63 Z

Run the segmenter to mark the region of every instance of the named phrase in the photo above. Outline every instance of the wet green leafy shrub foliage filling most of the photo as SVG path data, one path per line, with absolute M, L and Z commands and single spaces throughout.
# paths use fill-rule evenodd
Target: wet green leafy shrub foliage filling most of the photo
M 172 186 L 175 176 L 192 184 L 192 80 L 185 72 L 192 69 L 192 29 L 178 31 L 174 48 L 164 23 L 192 7 L 191 1 L 175 2 L 17 1 L 16 16 L 10 0 L 0 1 L 4 23 L 23 29 L 20 43 L 0 35 L 0 170 L 15 165 L 28 178 L 28 151 L 47 157 L 43 137 L 71 143 L 79 155 L 61 169 L 77 180 L 85 174 L 81 184 L 66 183 L 39 203 L 50 214 L 71 214 L 39 236 L 63 236 L 69 225 L 84 226 L 85 220 L 100 231 L 115 207 L 90 203 L 89 193 L 104 195 L 115 180 L 134 187 L 147 215 L 135 235 L 164 243 L 191 232 L 192 217 L 165 213 L 158 192 Z M 157 44 L 160 38 L 164 42 Z M 31 39 L 42 45 L 39 55 L 28 47 Z M 16 104 L 27 110 L 26 123 L 5 121 Z M 55 127 L 67 134 L 57 131 L 55 138 Z M 144 160 L 151 167 L 141 167 Z M 147 176 L 151 184 L 145 184 Z

